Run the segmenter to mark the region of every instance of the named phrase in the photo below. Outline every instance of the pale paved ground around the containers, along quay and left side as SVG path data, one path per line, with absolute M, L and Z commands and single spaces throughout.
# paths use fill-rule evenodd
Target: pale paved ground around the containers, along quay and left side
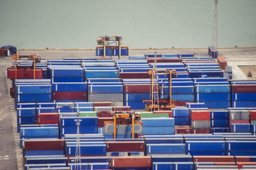
M 20 50 L 18 52 L 39 54 L 45 59 L 95 58 L 94 50 Z M 164 53 L 194 53 L 195 56 L 208 56 L 207 49 L 157 50 L 157 54 Z M 219 53 L 227 59 L 228 66 L 232 66 L 233 79 L 248 79 L 247 70 L 252 69 L 252 65 L 256 65 L 256 49 L 220 49 Z M 129 54 L 130 56 L 154 54 L 154 50 L 130 50 Z M 22 169 L 22 150 L 19 148 L 14 100 L 8 95 L 11 81 L 6 79 L 6 68 L 11 63 L 10 57 L 0 57 L 0 169 Z M 253 68 L 255 69 L 254 66 Z M 255 79 L 255 76 L 253 75 L 252 78 Z

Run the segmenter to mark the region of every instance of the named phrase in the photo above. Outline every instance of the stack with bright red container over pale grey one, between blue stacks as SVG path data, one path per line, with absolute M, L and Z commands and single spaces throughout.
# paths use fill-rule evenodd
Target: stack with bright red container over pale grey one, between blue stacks
M 193 134 L 209 134 L 211 116 L 209 110 L 191 110 L 191 129 Z

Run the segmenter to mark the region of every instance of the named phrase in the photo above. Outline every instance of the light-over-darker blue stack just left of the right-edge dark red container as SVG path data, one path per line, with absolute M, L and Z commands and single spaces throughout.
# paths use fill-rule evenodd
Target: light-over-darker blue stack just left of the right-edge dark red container
M 196 102 L 204 102 L 208 108 L 230 107 L 230 85 L 227 79 L 194 79 L 194 83 Z

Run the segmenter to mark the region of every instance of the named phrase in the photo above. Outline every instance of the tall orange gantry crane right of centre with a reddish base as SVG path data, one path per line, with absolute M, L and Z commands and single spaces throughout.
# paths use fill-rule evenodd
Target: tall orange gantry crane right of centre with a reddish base
M 175 107 L 172 103 L 172 78 L 177 77 L 176 70 L 166 70 L 166 69 L 157 69 L 154 68 L 152 70 L 148 70 L 148 74 L 150 75 L 150 100 L 143 100 L 147 109 L 146 111 L 155 111 L 155 110 L 169 110 L 170 108 Z M 168 97 L 160 98 L 159 86 L 158 83 L 158 75 L 164 74 L 166 78 L 168 78 Z

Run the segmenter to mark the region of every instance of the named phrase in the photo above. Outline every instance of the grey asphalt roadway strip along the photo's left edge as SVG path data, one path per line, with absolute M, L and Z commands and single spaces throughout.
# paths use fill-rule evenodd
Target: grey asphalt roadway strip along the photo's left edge
M 19 148 L 19 136 L 17 137 L 17 125 L 16 128 L 13 127 L 16 115 L 13 99 L 8 94 L 5 59 L 7 58 L 0 57 L 0 169 L 18 169 L 16 148 Z

